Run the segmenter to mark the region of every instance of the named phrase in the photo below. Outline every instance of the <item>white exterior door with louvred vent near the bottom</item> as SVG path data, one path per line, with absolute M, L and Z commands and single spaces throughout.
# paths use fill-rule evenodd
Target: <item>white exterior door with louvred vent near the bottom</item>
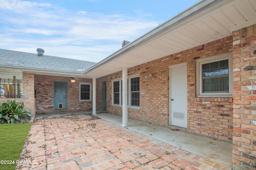
M 170 66 L 170 125 L 187 127 L 187 64 Z

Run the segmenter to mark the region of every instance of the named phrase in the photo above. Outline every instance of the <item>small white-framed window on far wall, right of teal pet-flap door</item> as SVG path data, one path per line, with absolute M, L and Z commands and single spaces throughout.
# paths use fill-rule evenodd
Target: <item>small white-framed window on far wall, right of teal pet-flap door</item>
M 91 101 L 92 96 L 92 84 L 91 83 L 80 83 L 79 84 L 79 100 L 80 101 Z

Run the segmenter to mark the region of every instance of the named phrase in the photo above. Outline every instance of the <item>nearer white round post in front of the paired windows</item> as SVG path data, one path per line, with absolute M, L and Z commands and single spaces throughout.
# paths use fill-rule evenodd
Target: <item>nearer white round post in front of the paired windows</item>
M 122 127 L 128 127 L 128 107 L 127 107 L 127 93 L 128 93 L 128 89 L 127 89 L 127 68 L 123 67 L 122 68 L 122 81 L 123 81 L 123 86 L 122 86 L 122 99 L 123 99 L 123 111 L 122 111 L 122 118 L 123 118 L 123 124 L 121 125 Z

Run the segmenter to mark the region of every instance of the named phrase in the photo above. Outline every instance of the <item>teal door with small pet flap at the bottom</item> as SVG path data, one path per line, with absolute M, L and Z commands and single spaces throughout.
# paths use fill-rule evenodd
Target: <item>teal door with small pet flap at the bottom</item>
M 67 109 L 67 82 L 54 82 L 54 110 Z

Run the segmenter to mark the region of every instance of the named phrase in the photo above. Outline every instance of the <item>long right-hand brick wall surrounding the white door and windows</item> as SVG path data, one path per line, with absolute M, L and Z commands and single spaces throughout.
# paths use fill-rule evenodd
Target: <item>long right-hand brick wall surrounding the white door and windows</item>
M 196 59 L 211 57 L 232 51 L 232 37 L 195 47 L 171 56 L 163 57 L 133 68 L 128 68 L 128 76 L 140 74 L 140 109 L 128 109 L 128 116 L 152 123 L 169 123 L 169 68 L 168 66 L 187 62 L 188 73 L 188 126 L 187 130 L 232 140 L 233 108 L 232 97 L 196 97 Z M 148 74 L 152 78 L 145 78 Z M 102 82 L 107 82 L 107 111 L 122 114 L 122 107 L 112 106 L 112 80 L 121 78 L 116 72 L 97 81 L 97 109 L 102 108 Z M 207 101 L 208 104 L 203 104 Z

